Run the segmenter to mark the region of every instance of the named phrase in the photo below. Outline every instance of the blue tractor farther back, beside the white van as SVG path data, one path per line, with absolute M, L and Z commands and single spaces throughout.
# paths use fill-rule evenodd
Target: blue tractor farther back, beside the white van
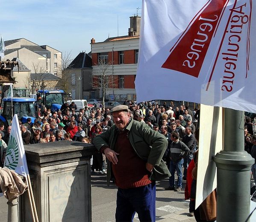
M 41 102 L 47 109 L 50 108 L 52 112 L 60 110 L 62 104 L 64 104 L 65 95 L 67 94 L 61 89 L 39 89 L 37 91 L 39 103 Z

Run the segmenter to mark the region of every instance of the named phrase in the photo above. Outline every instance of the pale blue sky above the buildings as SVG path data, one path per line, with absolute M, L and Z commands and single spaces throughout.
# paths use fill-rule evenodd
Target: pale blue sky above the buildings
M 137 14 L 137 8 L 141 16 L 141 4 L 141 0 L 0 0 L 0 34 L 4 40 L 24 37 L 71 52 L 74 59 L 79 52 L 91 51 L 91 38 L 102 42 L 127 35 L 129 17 Z

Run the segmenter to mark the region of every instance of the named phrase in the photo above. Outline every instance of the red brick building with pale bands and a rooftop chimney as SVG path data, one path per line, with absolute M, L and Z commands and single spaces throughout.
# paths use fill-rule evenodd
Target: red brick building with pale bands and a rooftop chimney
M 130 17 L 130 28 L 126 36 L 109 37 L 98 43 L 94 38 L 91 39 L 92 83 L 93 88 L 97 89 L 95 98 L 102 98 L 103 80 L 99 80 L 97 76 L 102 76 L 101 73 L 106 70 L 109 75 L 106 99 L 136 100 L 134 81 L 138 63 L 140 20 L 139 16 Z

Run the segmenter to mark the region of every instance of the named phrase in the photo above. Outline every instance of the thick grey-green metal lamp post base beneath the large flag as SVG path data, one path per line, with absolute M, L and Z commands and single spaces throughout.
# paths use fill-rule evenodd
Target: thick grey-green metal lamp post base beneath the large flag
M 244 112 L 224 109 L 224 149 L 216 154 L 217 221 L 245 221 L 250 214 L 250 168 L 244 151 Z

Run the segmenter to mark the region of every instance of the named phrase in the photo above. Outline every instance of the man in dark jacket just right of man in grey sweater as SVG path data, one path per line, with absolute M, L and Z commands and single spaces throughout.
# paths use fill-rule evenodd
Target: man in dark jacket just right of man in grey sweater
M 194 134 L 191 133 L 192 128 L 186 127 L 185 128 L 185 136 L 182 139 L 182 142 L 187 145 L 187 147 L 190 150 L 190 153 L 188 156 L 184 158 L 184 171 L 183 171 L 183 179 L 185 180 L 187 178 L 187 170 L 188 170 L 188 164 L 193 159 L 194 151 L 196 150 L 196 138 L 194 137 Z

